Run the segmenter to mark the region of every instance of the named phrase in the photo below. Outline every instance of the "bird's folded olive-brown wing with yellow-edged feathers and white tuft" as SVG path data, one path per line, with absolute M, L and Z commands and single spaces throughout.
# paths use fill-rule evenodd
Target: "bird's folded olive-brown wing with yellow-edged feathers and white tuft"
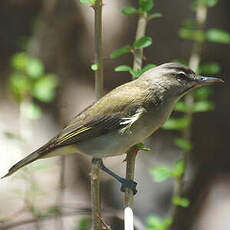
M 56 137 L 58 146 L 74 144 L 87 138 L 121 130 L 126 132 L 144 112 L 138 100 L 140 88 L 127 83 L 118 87 L 74 118 Z M 119 103 L 118 103 L 119 102 Z

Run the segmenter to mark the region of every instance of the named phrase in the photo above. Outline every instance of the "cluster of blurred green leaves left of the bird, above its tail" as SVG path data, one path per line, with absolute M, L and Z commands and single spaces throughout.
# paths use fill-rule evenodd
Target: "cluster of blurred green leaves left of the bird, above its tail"
M 41 109 L 33 99 L 44 103 L 52 102 L 58 87 L 58 77 L 55 74 L 45 73 L 42 61 L 25 52 L 13 55 L 11 66 L 10 92 L 27 118 L 38 119 L 41 116 Z

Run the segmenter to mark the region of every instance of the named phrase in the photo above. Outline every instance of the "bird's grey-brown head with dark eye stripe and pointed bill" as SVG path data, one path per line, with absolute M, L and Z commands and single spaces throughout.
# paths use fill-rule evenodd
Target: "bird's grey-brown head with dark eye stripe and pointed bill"
M 178 63 L 166 63 L 157 66 L 143 74 L 154 88 L 158 88 L 167 96 L 180 98 L 190 90 L 224 82 L 216 77 L 204 77 L 195 74 L 190 68 Z

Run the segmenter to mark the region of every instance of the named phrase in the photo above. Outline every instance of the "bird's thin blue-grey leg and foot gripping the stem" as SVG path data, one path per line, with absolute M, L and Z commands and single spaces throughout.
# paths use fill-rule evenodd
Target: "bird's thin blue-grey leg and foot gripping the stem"
M 125 178 L 118 176 L 116 173 L 114 173 L 113 171 L 105 167 L 102 159 L 100 158 L 93 158 L 92 162 L 95 163 L 98 166 L 98 168 L 100 168 L 101 170 L 108 173 L 110 176 L 114 177 L 116 180 L 118 180 L 121 183 L 122 192 L 125 192 L 125 188 L 129 188 L 129 189 L 132 189 L 134 195 L 137 193 L 137 190 L 136 190 L 137 183 L 135 181 L 127 180 Z

